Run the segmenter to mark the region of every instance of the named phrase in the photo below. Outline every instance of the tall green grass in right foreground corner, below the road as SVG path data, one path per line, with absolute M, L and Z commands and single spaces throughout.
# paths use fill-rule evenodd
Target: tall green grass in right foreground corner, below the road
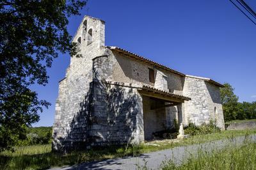
M 198 151 L 182 165 L 167 162 L 163 169 L 256 169 L 256 143 L 246 143 L 239 147 L 210 152 Z

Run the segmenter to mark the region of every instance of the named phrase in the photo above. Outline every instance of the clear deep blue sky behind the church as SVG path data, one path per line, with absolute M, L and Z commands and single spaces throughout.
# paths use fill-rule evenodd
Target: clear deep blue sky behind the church
M 256 2 L 246 1 L 256 10 Z M 106 45 L 118 46 L 189 75 L 228 82 L 239 101 L 256 101 L 256 26 L 229 0 L 89 0 L 81 15 L 70 17 L 76 33 L 83 15 L 106 21 Z M 51 102 L 33 126 L 51 126 L 58 81 L 70 56 L 60 54 L 48 69 L 49 84 L 33 86 Z

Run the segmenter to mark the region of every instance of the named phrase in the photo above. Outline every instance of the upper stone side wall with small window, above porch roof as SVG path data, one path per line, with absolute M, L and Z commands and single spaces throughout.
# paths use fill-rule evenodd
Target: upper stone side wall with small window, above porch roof
M 156 69 L 154 66 L 129 58 L 119 53 L 113 54 L 113 81 L 148 84 L 182 95 L 183 77 L 172 72 Z M 154 70 L 155 83 L 149 81 L 148 68 Z

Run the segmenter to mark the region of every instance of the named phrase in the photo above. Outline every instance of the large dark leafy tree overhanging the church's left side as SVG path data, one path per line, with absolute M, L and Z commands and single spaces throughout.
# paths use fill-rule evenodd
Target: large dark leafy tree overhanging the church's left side
M 47 84 L 46 68 L 58 51 L 76 55 L 68 17 L 85 5 L 85 0 L 0 0 L 0 151 L 26 138 L 26 127 L 49 106 L 29 87 Z

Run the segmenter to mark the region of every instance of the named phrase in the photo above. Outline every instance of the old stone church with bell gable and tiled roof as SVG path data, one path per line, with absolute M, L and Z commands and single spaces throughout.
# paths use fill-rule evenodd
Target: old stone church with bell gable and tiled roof
M 105 45 L 105 22 L 85 16 L 59 82 L 52 149 L 143 143 L 175 123 L 213 121 L 224 129 L 222 84 L 186 75 L 119 47 Z

